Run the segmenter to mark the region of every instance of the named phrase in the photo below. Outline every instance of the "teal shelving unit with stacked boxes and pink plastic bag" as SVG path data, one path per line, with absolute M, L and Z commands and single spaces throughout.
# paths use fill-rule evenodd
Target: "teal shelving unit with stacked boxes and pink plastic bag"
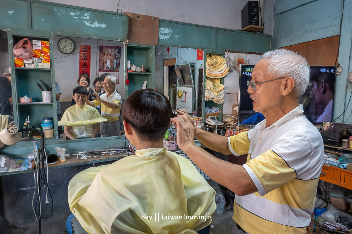
M 18 43 L 21 39 L 28 38 L 32 40 L 43 40 L 43 41 L 51 41 L 50 36 L 45 37 L 43 35 L 24 35 L 24 34 L 15 34 L 8 32 L 8 38 L 13 40 L 12 45 Z M 51 45 L 49 45 L 51 47 Z M 12 51 L 12 48 L 9 48 Z M 54 51 L 54 49 L 50 48 L 50 51 Z M 50 53 L 51 59 L 53 58 L 52 53 Z M 52 88 L 52 100 L 56 100 L 56 92 L 55 92 L 55 83 L 53 80 L 52 69 L 53 66 L 50 66 L 50 69 L 45 68 L 26 68 L 26 67 L 15 67 L 14 66 L 14 57 L 10 56 L 12 67 L 14 69 L 11 70 L 12 73 L 12 87 L 13 92 L 13 109 L 14 109 L 14 120 L 15 125 L 22 128 L 26 119 L 30 118 L 31 126 L 36 127 L 40 126 L 44 117 L 53 117 L 54 121 L 56 119 L 56 112 L 54 108 L 56 108 L 56 102 L 42 102 L 42 91 L 37 86 L 37 82 L 45 89 L 45 85 L 40 81 L 44 81 L 48 87 Z M 50 65 L 53 63 L 51 62 Z M 31 103 L 20 103 L 19 98 L 27 95 L 29 98 L 32 98 Z M 54 131 L 57 132 L 57 126 L 54 124 Z M 50 139 L 50 138 L 48 138 Z M 55 139 L 55 137 L 53 138 Z M 31 140 L 31 139 L 30 139 Z

